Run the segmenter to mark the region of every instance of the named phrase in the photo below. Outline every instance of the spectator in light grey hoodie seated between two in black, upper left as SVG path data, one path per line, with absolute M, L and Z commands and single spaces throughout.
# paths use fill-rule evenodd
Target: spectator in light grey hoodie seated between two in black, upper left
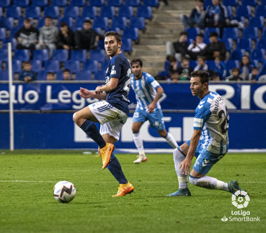
M 50 58 L 53 55 L 53 50 L 56 49 L 56 40 L 58 35 L 57 27 L 52 25 L 51 16 L 46 16 L 44 19 L 44 26 L 40 28 L 39 43 L 36 45 L 36 49 L 50 50 Z

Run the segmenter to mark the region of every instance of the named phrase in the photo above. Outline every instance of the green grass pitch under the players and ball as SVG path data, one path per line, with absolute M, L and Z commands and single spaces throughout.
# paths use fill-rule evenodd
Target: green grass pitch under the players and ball
M 118 183 L 101 159 L 82 151 L 0 151 L 0 232 L 265 232 L 266 154 L 227 154 L 210 176 L 239 181 L 249 193 L 249 217 L 259 222 L 221 221 L 231 211 L 231 195 L 189 183 L 191 197 L 166 197 L 177 190 L 172 154 L 117 154 L 134 192 L 113 198 Z M 194 161 L 194 160 L 193 160 Z M 70 203 L 53 198 L 59 180 L 74 183 Z M 233 217 L 233 216 L 232 216 Z M 242 216 L 237 216 L 242 217 Z

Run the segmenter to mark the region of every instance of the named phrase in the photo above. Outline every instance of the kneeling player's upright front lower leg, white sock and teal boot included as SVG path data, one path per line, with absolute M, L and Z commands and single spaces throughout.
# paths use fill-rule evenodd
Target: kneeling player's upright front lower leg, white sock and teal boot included
M 180 163 L 185 159 L 185 155 L 181 152 L 181 149 L 177 147 L 173 151 L 173 160 L 175 163 L 175 169 L 176 169 L 176 175 L 178 178 L 179 188 L 176 192 L 170 193 L 167 196 L 173 197 L 173 196 L 191 196 L 191 193 L 187 187 L 187 175 L 182 174 L 179 166 Z

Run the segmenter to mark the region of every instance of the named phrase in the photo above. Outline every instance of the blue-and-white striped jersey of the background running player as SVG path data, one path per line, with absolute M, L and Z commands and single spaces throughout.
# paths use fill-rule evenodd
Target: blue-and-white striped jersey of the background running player
M 139 80 L 134 78 L 134 74 L 131 75 L 131 87 L 135 92 L 137 100 L 137 108 L 139 107 L 142 110 L 146 110 L 145 107 L 153 102 L 156 89 L 160 87 L 160 84 L 148 73 L 142 72 L 142 77 Z M 156 104 L 156 108 L 160 109 L 159 101 Z

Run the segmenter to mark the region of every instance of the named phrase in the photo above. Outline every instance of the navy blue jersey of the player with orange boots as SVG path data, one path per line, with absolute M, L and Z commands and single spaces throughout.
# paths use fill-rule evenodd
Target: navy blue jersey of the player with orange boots
M 117 78 L 117 87 L 111 92 L 106 92 L 106 101 L 112 106 L 129 115 L 128 92 L 130 88 L 131 66 L 129 60 L 123 53 L 114 56 L 109 62 L 106 70 L 106 81 L 110 78 Z

